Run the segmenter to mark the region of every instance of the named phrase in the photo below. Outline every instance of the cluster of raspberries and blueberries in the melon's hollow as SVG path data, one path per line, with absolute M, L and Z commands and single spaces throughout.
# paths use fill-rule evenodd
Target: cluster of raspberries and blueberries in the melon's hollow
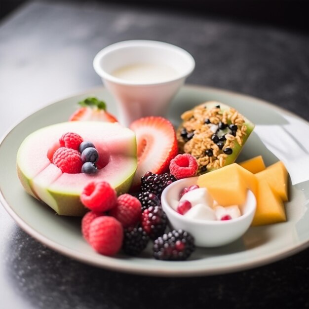
M 95 174 L 99 153 L 95 146 L 74 132 L 67 132 L 59 139 L 60 148 L 53 154 L 52 162 L 63 173 Z

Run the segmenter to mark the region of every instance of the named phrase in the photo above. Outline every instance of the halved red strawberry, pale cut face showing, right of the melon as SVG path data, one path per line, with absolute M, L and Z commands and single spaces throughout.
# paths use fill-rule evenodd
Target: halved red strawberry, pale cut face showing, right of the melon
M 178 147 L 174 127 L 163 117 L 137 119 L 131 123 L 130 129 L 135 132 L 137 142 L 138 164 L 132 184 L 136 189 L 146 172 L 166 172 L 171 159 L 178 154 Z

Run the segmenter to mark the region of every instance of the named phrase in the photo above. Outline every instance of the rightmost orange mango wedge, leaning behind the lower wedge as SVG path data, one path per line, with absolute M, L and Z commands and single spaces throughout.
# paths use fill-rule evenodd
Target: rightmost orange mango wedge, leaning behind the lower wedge
M 268 166 L 264 171 L 257 173 L 256 176 L 265 179 L 282 201 L 288 200 L 288 173 L 282 161 Z

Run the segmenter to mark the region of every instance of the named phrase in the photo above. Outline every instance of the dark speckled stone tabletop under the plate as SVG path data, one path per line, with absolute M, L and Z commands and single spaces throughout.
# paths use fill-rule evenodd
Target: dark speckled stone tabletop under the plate
M 100 85 L 94 55 L 125 39 L 179 45 L 196 60 L 188 83 L 257 96 L 309 120 L 305 35 L 128 4 L 28 2 L 0 24 L 0 135 L 39 107 Z M 308 308 L 308 271 L 308 249 L 198 278 L 97 269 L 46 248 L 0 207 L 1 309 Z

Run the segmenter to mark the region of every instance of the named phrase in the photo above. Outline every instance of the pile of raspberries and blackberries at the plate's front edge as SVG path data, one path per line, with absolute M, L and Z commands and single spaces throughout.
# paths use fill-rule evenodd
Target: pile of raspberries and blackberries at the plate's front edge
M 122 249 L 124 253 L 136 256 L 142 253 L 150 240 L 154 241 L 156 259 L 184 260 L 191 254 L 193 237 L 188 233 L 177 234 L 177 231 L 172 231 L 172 234 L 178 235 L 178 251 L 171 250 L 176 250 L 177 254 L 157 253 L 162 249 L 156 243 L 163 247 L 170 244 L 164 245 L 160 240 L 165 241 L 168 220 L 154 193 L 146 191 L 139 193 L 138 197 L 125 193 L 117 197 L 116 191 L 107 182 L 92 181 L 84 188 L 80 200 L 90 210 L 81 221 L 81 232 L 100 254 L 113 256 Z

